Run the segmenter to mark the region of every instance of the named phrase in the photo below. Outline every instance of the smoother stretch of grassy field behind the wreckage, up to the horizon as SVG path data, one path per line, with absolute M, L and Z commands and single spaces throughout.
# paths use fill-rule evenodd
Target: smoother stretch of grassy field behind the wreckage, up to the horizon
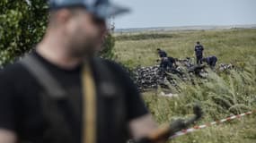
M 200 41 L 205 55 L 216 55 L 220 63 L 245 62 L 256 56 L 256 29 L 193 30 L 117 35 L 118 60 L 131 67 L 155 63 L 156 48 L 163 48 L 177 58 L 193 57 Z

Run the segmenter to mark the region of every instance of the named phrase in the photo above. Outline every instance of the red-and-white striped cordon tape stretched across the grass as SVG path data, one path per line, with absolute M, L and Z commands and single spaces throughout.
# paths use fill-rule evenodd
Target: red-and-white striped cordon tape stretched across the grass
M 203 125 L 194 126 L 193 128 L 190 128 L 190 129 L 181 130 L 181 131 L 176 132 L 169 139 L 174 139 L 176 137 L 188 134 L 190 132 L 194 132 L 194 131 L 199 130 L 199 129 L 204 129 L 204 128 L 207 128 L 207 127 L 212 126 L 212 125 L 220 124 L 220 123 L 223 123 L 223 122 L 229 122 L 231 120 L 238 119 L 238 118 L 241 118 L 245 115 L 249 115 L 249 114 L 253 114 L 253 113 L 256 113 L 256 111 L 251 111 L 251 112 L 247 112 L 247 113 L 244 113 L 244 114 L 237 114 L 237 115 L 230 116 L 228 118 L 225 118 L 225 119 L 222 119 L 222 120 L 219 120 L 219 121 L 216 121 L 216 122 L 209 122 L 209 123 L 206 123 L 206 124 L 203 124 Z

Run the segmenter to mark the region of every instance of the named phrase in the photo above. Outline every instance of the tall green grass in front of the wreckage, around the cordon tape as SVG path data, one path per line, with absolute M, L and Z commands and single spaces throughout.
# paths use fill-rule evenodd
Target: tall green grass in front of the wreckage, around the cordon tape
M 255 58 L 252 59 L 254 60 Z M 245 67 L 247 68 L 232 70 L 221 75 L 209 70 L 207 80 L 194 77 L 194 84 L 190 81 L 178 81 L 180 92 L 170 90 L 177 92 L 178 97 L 159 96 L 161 88 L 144 93 L 146 105 L 159 123 L 171 122 L 173 119 L 192 114 L 192 106 L 195 104 L 201 105 L 205 113 L 197 124 L 255 110 L 256 68 L 250 62 L 246 63 Z M 252 114 L 243 119 L 199 130 L 174 139 L 173 142 L 256 142 L 255 117 L 256 115 Z

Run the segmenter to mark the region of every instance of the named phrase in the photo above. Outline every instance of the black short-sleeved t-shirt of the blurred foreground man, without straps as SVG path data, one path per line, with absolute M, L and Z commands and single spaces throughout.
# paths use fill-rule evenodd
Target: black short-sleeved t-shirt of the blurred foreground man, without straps
M 81 85 L 81 71 L 82 65 L 75 67 L 72 70 L 64 70 L 56 65 L 49 63 L 37 53 L 32 53 L 41 63 L 49 70 L 52 76 L 56 78 L 59 84 L 67 90 L 80 88 L 78 93 L 77 104 L 82 108 L 82 85 Z M 104 61 L 104 64 L 109 67 L 110 71 L 115 74 L 118 84 L 124 88 L 126 121 L 131 121 L 139 116 L 147 114 L 146 106 L 144 105 L 137 87 L 133 81 L 129 79 L 126 71 L 123 71 L 117 63 Z M 103 71 L 102 71 L 103 72 Z M 93 68 L 93 75 L 95 76 L 96 86 L 99 84 L 97 75 L 101 71 L 95 71 Z M 5 67 L 0 71 L 0 129 L 13 130 L 19 139 L 28 140 L 32 143 L 42 142 L 43 130 L 43 115 L 40 108 L 40 86 L 31 73 L 23 67 L 21 63 L 14 63 Z M 71 96 L 71 95 L 70 95 Z M 66 121 L 69 123 L 71 132 L 75 137 L 74 143 L 81 143 L 82 134 L 82 112 L 80 112 L 80 119 L 74 119 L 72 113 L 68 113 L 66 105 L 59 105 L 64 112 Z M 80 110 L 82 111 L 82 109 Z M 106 116 L 106 120 L 115 118 L 113 116 Z M 127 126 L 127 124 L 124 124 Z M 103 130 L 106 133 L 108 130 Z M 119 137 L 117 137 L 119 138 Z M 115 139 L 105 140 L 105 142 L 116 142 Z

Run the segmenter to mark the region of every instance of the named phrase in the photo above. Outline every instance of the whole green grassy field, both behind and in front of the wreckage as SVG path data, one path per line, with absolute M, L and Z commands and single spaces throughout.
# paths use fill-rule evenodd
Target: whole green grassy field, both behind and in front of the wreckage
M 196 41 L 205 46 L 205 55 L 216 55 L 218 63 L 233 63 L 228 73 L 209 71 L 207 80 L 195 85 L 179 81 L 179 97 L 161 97 L 156 90 L 143 93 L 147 107 L 160 124 L 192 114 L 199 104 L 205 112 L 197 124 L 256 109 L 256 29 L 193 30 L 116 35 L 117 61 L 129 67 L 153 65 L 160 47 L 178 58 L 193 57 Z M 173 139 L 173 143 L 254 143 L 256 114 Z

